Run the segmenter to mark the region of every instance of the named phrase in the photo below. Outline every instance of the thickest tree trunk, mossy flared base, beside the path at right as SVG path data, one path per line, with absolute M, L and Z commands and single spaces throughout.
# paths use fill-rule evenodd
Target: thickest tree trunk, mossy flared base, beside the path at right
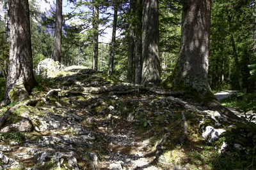
M 207 73 L 211 27 L 211 0 L 183 1 L 180 53 L 173 73 L 174 86 L 198 92 L 210 90 Z

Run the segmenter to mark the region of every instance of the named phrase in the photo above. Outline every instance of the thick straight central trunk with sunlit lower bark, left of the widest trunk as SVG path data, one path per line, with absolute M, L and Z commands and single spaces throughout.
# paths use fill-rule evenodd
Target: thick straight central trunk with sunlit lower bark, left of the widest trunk
M 143 1 L 142 83 L 160 82 L 158 0 Z

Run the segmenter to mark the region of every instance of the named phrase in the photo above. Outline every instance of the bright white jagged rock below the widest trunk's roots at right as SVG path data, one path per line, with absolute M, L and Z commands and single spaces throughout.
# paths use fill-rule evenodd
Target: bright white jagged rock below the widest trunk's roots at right
M 212 143 L 212 141 L 218 139 L 220 134 L 222 134 L 225 131 L 225 129 L 215 129 L 214 127 L 207 126 L 202 136 L 205 139 L 205 141 Z

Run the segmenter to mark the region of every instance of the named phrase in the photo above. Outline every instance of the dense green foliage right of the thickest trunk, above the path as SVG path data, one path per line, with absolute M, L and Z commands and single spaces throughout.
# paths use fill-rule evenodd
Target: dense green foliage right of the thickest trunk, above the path
M 212 89 L 239 89 L 238 66 L 234 62 L 234 36 L 243 89 L 250 89 L 248 64 L 253 61 L 253 8 L 252 1 L 212 1 L 211 55 L 209 57 L 209 83 Z M 246 30 L 246 31 L 245 31 Z

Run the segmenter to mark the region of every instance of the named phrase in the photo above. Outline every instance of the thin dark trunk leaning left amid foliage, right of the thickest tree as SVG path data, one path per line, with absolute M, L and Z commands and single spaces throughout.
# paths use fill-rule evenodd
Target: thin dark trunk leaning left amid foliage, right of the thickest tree
M 239 80 L 239 87 L 241 92 L 243 92 L 243 75 L 241 73 L 241 66 L 237 57 L 237 52 L 236 52 L 236 43 L 234 40 L 234 36 L 233 34 L 230 34 L 230 40 L 231 40 L 231 45 L 232 45 L 232 50 L 233 50 L 233 57 L 235 60 L 235 66 L 236 66 L 236 70 L 238 73 L 238 80 Z

